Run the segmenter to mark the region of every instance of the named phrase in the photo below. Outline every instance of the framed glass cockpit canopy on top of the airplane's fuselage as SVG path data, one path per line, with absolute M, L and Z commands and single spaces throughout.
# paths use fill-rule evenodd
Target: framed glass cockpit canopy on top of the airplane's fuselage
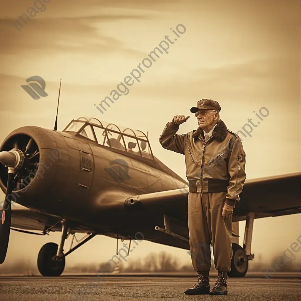
M 94 117 L 80 117 L 72 120 L 63 132 L 75 132 L 99 145 L 154 160 L 147 135 L 139 130 L 123 128 L 114 123 L 101 123 Z

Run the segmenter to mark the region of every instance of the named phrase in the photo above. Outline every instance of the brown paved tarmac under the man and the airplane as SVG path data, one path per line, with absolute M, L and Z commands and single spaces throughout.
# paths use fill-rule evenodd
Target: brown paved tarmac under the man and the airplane
M 115 274 L 103 277 L 94 287 L 82 295 L 84 284 L 95 275 L 0 276 L 0 300 L 2 301 L 171 301 L 171 300 L 301 300 L 300 274 L 277 273 L 265 278 L 262 273 L 249 272 L 244 278 L 228 278 L 227 296 L 185 295 L 186 287 L 196 282 L 193 274 Z M 216 273 L 210 275 L 213 287 Z M 81 292 L 81 293 L 79 293 Z M 77 297 L 76 297 L 77 296 Z

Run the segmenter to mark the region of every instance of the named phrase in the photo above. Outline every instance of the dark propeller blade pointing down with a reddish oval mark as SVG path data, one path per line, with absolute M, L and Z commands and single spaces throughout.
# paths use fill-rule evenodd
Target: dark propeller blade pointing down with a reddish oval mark
M 1 213 L 0 264 L 4 262 L 4 259 L 6 256 L 6 252 L 7 252 L 7 248 L 8 248 L 9 232 L 11 229 L 11 202 L 8 202 L 8 200 L 10 200 L 10 198 L 11 198 L 9 195 L 11 194 L 11 191 L 12 191 L 13 178 L 14 178 L 14 173 L 8 173 L 4 205 L 2 206 L 2 209 L 0 210 L 0 213 Z

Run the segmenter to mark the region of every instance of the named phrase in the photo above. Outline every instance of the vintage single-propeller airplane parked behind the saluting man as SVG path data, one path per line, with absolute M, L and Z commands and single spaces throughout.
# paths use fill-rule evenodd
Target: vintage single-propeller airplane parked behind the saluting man
M 143 132 L 82 117 L 62 132 L 56 127 L 16 129 L 0 151 L 0 186 L 6 192 L 0 263 L 10 229 L 62 232 L 59 245 L 47 243 L 39 252 L 43 276 L 61 275 L 65 257 L 98 234 L 118 241 L 139 231 L 145 240 L 189 250 L 187 183 L 154 157 Z M 246 181 L 233 213 L 234 224 L 247 221 L 244 245 L 234 235 L 229 276 L 247 273 L 254 218 L 301 213 L 300 177 L 296 173 Z M 26 208 L 11 210 L 7 200 Z M 63 253 L 65 239 L 77 232 L 87 237 Z

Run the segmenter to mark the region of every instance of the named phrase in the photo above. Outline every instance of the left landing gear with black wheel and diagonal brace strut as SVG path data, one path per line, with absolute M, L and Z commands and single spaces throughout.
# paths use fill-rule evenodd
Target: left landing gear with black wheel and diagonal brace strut
M 38 255 L 38 269 L 42 276 L 51 276 L 57 277 L 60 276 L 65 268 L 65 257 L 69 255 L 71 252 L 85 244 L 88 240 L 93 238 L 97 233 L 88 233 L 88 237 L 84 237 L 82 241 L 78 242 L 78 244 L 72 248 L 73 239 L 75 237 L 75 233 L 73 233 L 73 239 L 71 241 L 70 250 L 64 254 L 64 243 L 67 237 L 71 234 L 70 229 L 68 228 L 68 222 L 63 219 L 61 221 L 62 224 L 62 235 L 60 245 L 55 243 L 47 243 L 45 244 Z M 68 233 L 69 229 L 69 233 Z

